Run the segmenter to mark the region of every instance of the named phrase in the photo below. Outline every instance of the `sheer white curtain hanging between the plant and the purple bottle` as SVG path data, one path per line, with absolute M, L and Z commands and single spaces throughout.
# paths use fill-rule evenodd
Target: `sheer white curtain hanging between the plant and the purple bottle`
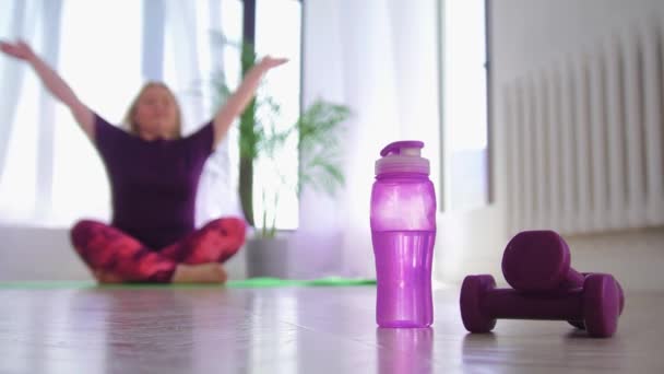
M 353 117 L 343 142 L 346 186 L 335 199 L 305 192 L 292 268 L 301 277 L 372 277 L 369 199 L 381 148 L 424 140 L 439 184 L 436 3 L 306 2 L 304 38 L 305 105 L 324 97 L 348 105 Z

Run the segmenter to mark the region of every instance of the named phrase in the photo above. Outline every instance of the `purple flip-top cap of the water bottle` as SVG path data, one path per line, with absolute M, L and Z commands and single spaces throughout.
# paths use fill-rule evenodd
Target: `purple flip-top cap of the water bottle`
M 376 161 L 376 175 L 386 173 L 418 173 L 429 175 L 429 160 L 420 155 L 424 142 L 402 140 L 388 144 Z

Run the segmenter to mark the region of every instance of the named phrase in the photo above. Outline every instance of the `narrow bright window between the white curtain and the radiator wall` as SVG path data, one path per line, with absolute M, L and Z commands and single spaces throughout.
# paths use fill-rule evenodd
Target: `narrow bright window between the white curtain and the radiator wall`
M 485 0 L 441 1 L 444 210 L 489 202 Z

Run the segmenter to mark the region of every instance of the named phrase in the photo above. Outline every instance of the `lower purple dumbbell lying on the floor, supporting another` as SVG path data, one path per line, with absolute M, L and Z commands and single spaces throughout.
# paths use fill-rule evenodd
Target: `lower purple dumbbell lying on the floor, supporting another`
M 581 320 L 591 337 L 610 337 L 618 326 L 620 295 L 614 277 L 589 274 L 583 288 L 524 294 L 496 289 L 491 276 L 467 276 L 461 287 L 461 319 L 471 332 L 488 332 L 497 318 Z

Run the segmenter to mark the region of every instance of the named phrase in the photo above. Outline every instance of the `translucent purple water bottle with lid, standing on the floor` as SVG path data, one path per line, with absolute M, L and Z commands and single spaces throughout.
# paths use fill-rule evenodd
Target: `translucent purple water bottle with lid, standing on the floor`
M 431 261 L 436 194 L 422 141 L 398 141 L 376 162 L 371 239 L 376 257 L 376 322 L 426 327 L 434 322 Z

